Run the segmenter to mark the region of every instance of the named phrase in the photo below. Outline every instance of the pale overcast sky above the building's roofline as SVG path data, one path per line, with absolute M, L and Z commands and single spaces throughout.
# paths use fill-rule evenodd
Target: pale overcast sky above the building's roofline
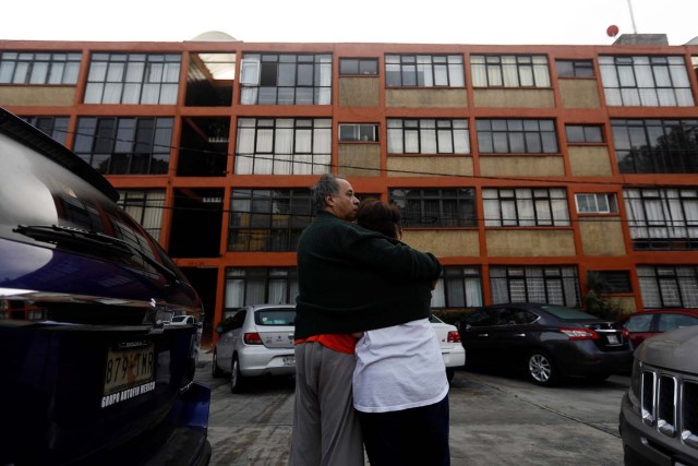
M 684 45 L 698 0 L 21 0 L 2 19 L 2 39 L 609 45 L 616 25 Z

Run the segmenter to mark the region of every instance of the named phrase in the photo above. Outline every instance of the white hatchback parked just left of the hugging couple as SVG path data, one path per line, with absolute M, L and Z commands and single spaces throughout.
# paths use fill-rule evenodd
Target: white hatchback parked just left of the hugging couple
M 296 373 L 296 306 L 246 306 L 216 326 L 213 377 L 230 374 L 230 391 L 244 391 L 249 378 Z

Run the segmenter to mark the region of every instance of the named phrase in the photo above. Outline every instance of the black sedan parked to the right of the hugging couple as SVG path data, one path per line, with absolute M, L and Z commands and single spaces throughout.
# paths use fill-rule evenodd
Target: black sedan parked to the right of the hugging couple
M 525 371 L 539 385 L 564 377 L 604 380 L 631 363 L 627 331 L 577 309 L 509 303 L 474 310 L 460 324 L 466 368 Z

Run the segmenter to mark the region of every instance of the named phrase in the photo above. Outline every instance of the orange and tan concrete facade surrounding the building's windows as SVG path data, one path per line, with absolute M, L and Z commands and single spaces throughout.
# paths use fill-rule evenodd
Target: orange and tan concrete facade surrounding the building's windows
M 628 226 L 624 190 L 641 187 L 696 189 L 698 174 L 690 172 L 627 172 L 619 169 L 612 126 L 621 120 L 679 120 L 698 118 L 698 82 L 696 67 L 698 46 L 613 45 L 613 46 L 476 46 L 419 44 L 253 44 L 243 41 L 184 43 L 72 43 L 72 41 L 3 41 L 0 52 L 80 53 L 80 71 L 74 83 L 35 84 L 0 83 L 0 106 L 22 117 L 65 117 L 68 133 L 64 144 L 75 150 L 81 118 L 168 118 L 172 119 L 171 151 L 166 174 L 106 174 L 119 190 L 159 190 L 165 192 L 161 225 L 156 238 L 174 258 L 185 273 L 207 271 L 205 277 L 194 279 L 208 303 L 205 342 L 214 338 L 212 323 L 222 319 L 231 302 L 232 292 L 227 270 L 255 267 L 289 267 L 296 265 L 292 250 L 260 251 L 231 250 L 231 196 L 242 189 L 308 189 L 317 179 L 305 175 L 238 174 L 236 157 L 239 148 L 239 120 L 251 119 L 328 119 L 332 122 L 332 162 L 328 170 L 347 176 L 358 193 L 380 195 L 390 201 L 394 189 L 461 189 L 474 191 L 476 220 L 469 226 L 406 228 L 405 241 L 437 254 L 445 266 L 474 266 L 480 271 L 481 301 L 493 301 L 491 268 L 497 266 L 569 266 L 574 267 L 580 296 L 587 289 L 587 272 L 619 271 L 627 273 L 628 289 L 613 292 L 613 298 L 630 310 L 646 308 L 642 301 L 638 265 L 698 266 L 698 249 L 675 246 L 660 249 L 638 248 Z M 91 81 L 91 60 L 95 53 L 109 55 L 172 55 L 181 57 L 176 101 L 166 104 L 86 104 L 85 94 Z M 229 103 L 196 105 L 193 99 L 195 80 L 206 81 L 193 73 L 198 58 L 205 53 L 227 57 L 234 71 L 231 79 L 207 86 L 225 88 Z M 328 104 L 265 105 L 242 104 L 241 64 L 245 56 L 297 55 L 329 56 L 330 92 Z M 386 56 L 420 56 L 462 58 L 462 85 L 388 85 Z M 546 85 L 481 85 L 473 82 L 473 57 L 543 57 L 547 69 Z M 688 84 L 681 84 L 693 95 L 689 105 L 629 106 L 609 105 L 599 57 L 679 57 L 685 64 Z M 3 57 L 5 57 L 3 55 Z M 364 75 L 340 72 L 340 60 L 375 60 L 375 73 Z M 4 60 L 4 59 L 3 59 Z M 591 63 L 591 75 L 561 76 L 559 62 Z M 264 63 L 262 61 L 262 63 Z M 435 62 L 434 62 L 435 63 Z M 280 67 L 281 64 L 279 64 Z M 299 65 L 300 67 L 300 65 Z M 401 64 L 405 72 L 408 65 Z M 434 64 L 434 69 L 436 65 Z M 202 67 L 202 70 L 204 67 Z M 519 73 L 522 73 L 519 68 Z M 298 68 L 300 70 L 300 68 Z M 447 73 L 450 73 L 448 71 Z M 206 74 L 205 72 L 202 74 Z M 453 79 L 453 75 L 449 75 Z M 264 79 L 264 76 L 262 76 Z M 128 80 L 127 80 L 128 81 Z M 109 79 L 105 82 L 108 84 Z M 674 83 L 676 81 L 673 81 Z M 213 83 L 213 84 L 212 84 Z M 315 82 L 316 83 L 316 82 Z M 675 84 L 678 86 L 678 84 Z M 321 91 L 322 92 L 322 91 Z M 188 99 L 190 100 L 188 104 Z M 188 146 L 190 128 L 195 122 L 224 121 L 228 133 L 225 151 L 225 172 L 197 176 L 195 171 L 182 176 L 181 154 Z M 465 120 L 468 150 L 466 153 L 389 153 L 389 120 Z M 532 120 L 552 121 L 556 151 L 483 152 L 479 140 L 479 121 Z M 194 123 L 192 123 L 194 122 Z M 339 126 L 369 124 L 377 129 L 375 141 L 340 141 Z M 569 142 L 567 127 L 601 129 L 600 142 Z M 407 132 L 402 133 L 404 135 Z M 480 135 L 482 136 L 482 135 Z M 407 141 L 407 136 L 406 141 Z M 503 138 L 506 138 L 503 136 Z M 698 158 L 698 147 L 686 157 Z M 77 152 L 77 151 L 76 151 Z M 684 154 L 684 153 L 683 153 Z M 239 170 L 239 169 L 238 169 Z M 563 225 L 505 226 L 485 225 L 484 191 L 506 189 L 557 189 L 566 193 L 567 219 Z M 648 189 L 649 189 L 648 188 Z M 173 225 L 178 210 L 176 196 L 184 192 L 212 192 L 222 208 L 216 211 L 214 226 L 219 231 L 207 236 L 218 238 L 215 253 L 181 256 L 171 250 L 173 238 L 185 228 L 196 225 Z M 585 213 L 576 205 L 576 194 L 604 193 L 613 195 L 617 210 Z M 189 217 L 188 217 L 189 218 Z M 208 218 L 208 217 L 207 217 Z M 690 227 L 693 224 L 688 225 Z M 178 229 L 179 228 L 179 229 Z M 195 234 L 188 232 L 195 239 Z M 252 235 L 252 231 L 251 231 Z M 690 241 L 688 241 L 690 242 Z M 184 247 L 184 249 L 186 249 Z M 228 299 L 228 301 L 227 301 Z M 581 304 L 581 298 L 579 299 Z M 454 306 L 445 306 L 453 308 Z

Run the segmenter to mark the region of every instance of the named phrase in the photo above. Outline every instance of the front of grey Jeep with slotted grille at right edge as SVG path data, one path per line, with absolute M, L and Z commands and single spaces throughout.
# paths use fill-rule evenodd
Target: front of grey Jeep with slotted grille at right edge
M 625 464 L 698 465 L 698 326 L 661 333 L 635 350 L 619 431 Z

